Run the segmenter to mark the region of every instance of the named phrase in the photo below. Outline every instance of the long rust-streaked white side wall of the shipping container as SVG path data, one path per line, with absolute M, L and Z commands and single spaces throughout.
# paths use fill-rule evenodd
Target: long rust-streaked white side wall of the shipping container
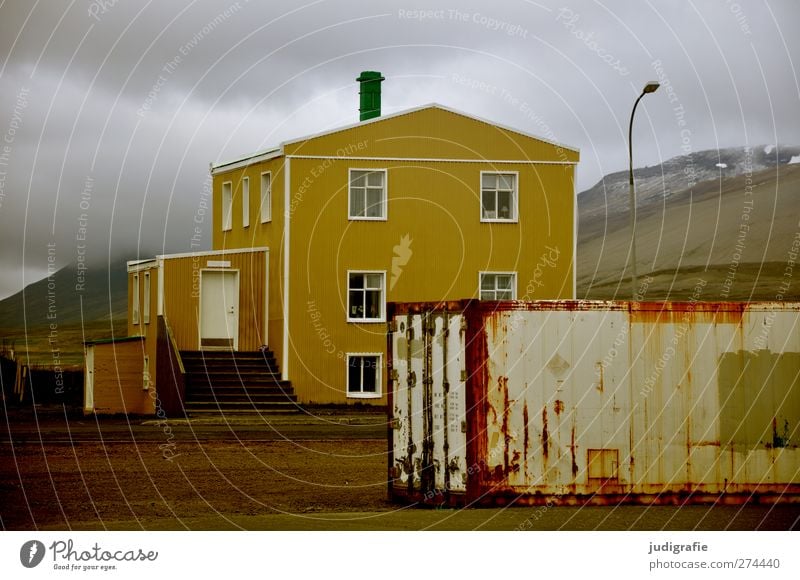
M 800 305 L 473 303 L 466 316 L 467 499 L 800 493 Z

